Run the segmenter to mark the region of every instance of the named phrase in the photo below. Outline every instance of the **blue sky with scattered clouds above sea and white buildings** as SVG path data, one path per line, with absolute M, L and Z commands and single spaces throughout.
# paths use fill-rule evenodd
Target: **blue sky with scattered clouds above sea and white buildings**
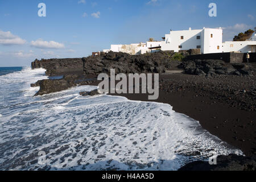
M 39 16 L 39 3 L 46 16 Z M 209 4 L 217 16 L 210 17 Z M 223 41 L 256 26 L 255 0 L 0 0 L 0 67 L 85 57 L 172 30 L 222 27 Z

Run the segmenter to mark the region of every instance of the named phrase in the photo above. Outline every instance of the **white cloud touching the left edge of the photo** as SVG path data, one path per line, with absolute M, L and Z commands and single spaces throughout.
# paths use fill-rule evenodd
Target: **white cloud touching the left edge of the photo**
M 25 44 L 26 40 L 19 38 L 19 36 L 11 34 L 10 31 L 4 32 L 0 30 L 0 44 L 4 46 Z

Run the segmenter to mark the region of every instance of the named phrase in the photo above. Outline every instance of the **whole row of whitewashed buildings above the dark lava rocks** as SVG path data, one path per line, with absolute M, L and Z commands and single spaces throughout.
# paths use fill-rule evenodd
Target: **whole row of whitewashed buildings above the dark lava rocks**
M 104 52 L 125 52 L 131 55 L 138 55 L 147 52 L 174 51 L 188 49 L 201 49 L 201 53 L 220 52 L 256 52 L 256 35 L 250 41 L 224 42 L 222 43 L 222 28 L 203 28 L 203 30 L 181 30 L 170 31 L 163 41 L 146 42 L 128 45 L 111 45 L 110 49 Z

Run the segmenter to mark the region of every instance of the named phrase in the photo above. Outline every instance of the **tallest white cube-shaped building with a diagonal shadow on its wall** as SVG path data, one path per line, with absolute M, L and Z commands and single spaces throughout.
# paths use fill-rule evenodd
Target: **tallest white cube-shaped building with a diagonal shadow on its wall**
M 201 53 L 222 52 L 222 29 L 170 31 L 162 42 L 162 51 L 175 51 L 200 48 Z

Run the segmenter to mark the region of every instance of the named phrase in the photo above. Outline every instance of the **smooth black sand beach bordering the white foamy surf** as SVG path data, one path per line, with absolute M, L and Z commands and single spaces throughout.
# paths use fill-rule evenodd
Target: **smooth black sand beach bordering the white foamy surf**
M 175 79 L 174 82 L 188 79 L 189 82 L 195 82 L 195 77 L 176 73 L 172 75 L 161 75 L 159 85 L 163 85 L 168 79 Z M 234 77 L 236 80 L 239 77 Z M 200 79 L 207 79 L 200 77 Z M 210 78 L 214 79 L 214 78 Z M 224 79 L 224 78 L 221 78 Z M 227 77 L 226 79 L 230 79 Z M 243 79 L 243 78 L 242 78 Z M 97 82 L 89 85 L 97 86 Z M 212 86 L 214 87 L 214 86 Z M 195 88 L 177 89 L 174 86 L 172 90 L 165 90 L 160 86 L 159 98 L 157 100 L 148 100 L 148 94 L 109 94 L 111 96 L 122 96 L 132 101 L 159 102 L 169 104 L 177 113 L 185 114 L 188 117 L 199 121 L 203 129 L 210 134 L 220 138 L 224 142 L 240 149 L 246 156 L 255 155 L 255 136 L 256 127 L 254 119 L 256 112 L 249 109 L 239 109 L 239 106 L 230 106 L 225 103 L 225 99 L 211 98 L 209 94 L 202 94 Z M 209 92 L 210 89 L 207 90 Z

